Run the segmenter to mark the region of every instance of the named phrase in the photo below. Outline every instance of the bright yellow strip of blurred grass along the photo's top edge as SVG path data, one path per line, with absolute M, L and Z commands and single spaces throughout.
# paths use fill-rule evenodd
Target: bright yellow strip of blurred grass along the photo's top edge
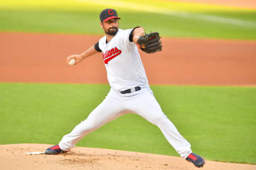
M 95 5 L 97 4 L 97 5 Z M 66 10 L 66 11 L 94 11 L 102 9 L 102 7 L 109 8 L 113 6 L 121 6 L 122 11 L 129 11 L 131 5 L 141 7 L 160 7 L 168 8 L 170 10 L 187 11 L 187 12 L 209 12 L 209 11 L 255 11 L 255 9 L 243 7 L 228 7 L 210 4 L 198 4 L 178 1 L 162 1 L 162 0 L 104 0 L 90 1 L 90 0 L 3 0 L 0 2 L 2 8 L 23 8 L 23 9 L 39 9 L 48 8 L 52 10 Z M 141 11 L 143 9 L 138 9 Z

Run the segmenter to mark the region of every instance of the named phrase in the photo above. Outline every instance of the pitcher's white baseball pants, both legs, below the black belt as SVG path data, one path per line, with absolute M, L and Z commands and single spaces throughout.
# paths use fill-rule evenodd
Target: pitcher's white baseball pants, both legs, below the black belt
M 162 112 L 149 88 L 142 88 L 139 91 L 124 95 L 111 89 L 107 97 L 91 112 L 86 120 L 62 138 L 59 143 L 60 148 L 63 151 L 74 148 L 75 144 L 86 134 L 126 113 L 138 114 L 158 126 L 167 141 L 181 157 L 187 158 L 192 152 L 190 143 L 182 137 L 173 123 Z

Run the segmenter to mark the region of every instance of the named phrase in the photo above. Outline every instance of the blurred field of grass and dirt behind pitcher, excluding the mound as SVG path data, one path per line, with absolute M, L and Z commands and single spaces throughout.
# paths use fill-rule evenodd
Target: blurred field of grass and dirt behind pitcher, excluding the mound
M 119 28 L 162 36 L 162 52 L 140 52 L 163 112 L 207 160 L 256 164 L 256 2 L 0 1 L 0 144 L 60 141 L 110 87 L 102 55 L 69 66 L 104 35 L 99 14 Z M 54 133 L 52 133 L 54 131 Z M 178 156 L 156 126 L 128 114 L 77 146 Z

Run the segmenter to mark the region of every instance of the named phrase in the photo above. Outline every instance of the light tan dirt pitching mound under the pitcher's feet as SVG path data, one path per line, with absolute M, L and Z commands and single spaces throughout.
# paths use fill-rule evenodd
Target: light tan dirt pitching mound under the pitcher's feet
M 1 169 L 198 169 L 183 158 L 138 152 L 76 147 L 66 154 L 29 155 L 51 145 L 0 145 Z M 221 163 L 206 160 L 202 169 L 256 169 L 256 165 Z

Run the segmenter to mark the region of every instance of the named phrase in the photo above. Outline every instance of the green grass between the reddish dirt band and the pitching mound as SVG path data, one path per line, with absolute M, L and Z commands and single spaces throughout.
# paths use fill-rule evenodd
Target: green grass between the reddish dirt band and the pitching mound
M 256 164 L 256 88 L 152 86 L 163 112 L 207 160 Z M 108 85 L 0 83 L 0 144 L 58 143 L 105 98 Z M 127 114 L 77 146 L 179 156 L 161 131 Z

